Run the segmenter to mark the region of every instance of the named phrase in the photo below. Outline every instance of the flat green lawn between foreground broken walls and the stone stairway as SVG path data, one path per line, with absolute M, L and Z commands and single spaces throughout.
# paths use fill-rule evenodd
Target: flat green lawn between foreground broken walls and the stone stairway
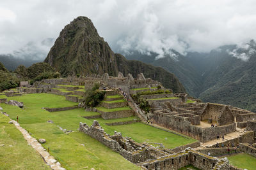
M 175 148 L 196 141 L 193 138 L 184 138 L 142 123 L 116 125 L 114 128 L 115 131 L 122 132 L 123 136 L 129 136 L 135 141 L 163 143 L 166 148 Z

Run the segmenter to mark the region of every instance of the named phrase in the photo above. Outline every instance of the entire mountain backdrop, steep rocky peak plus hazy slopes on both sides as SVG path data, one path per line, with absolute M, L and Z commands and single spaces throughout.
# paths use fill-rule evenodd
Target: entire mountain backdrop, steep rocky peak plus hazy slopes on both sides
M 243 46 L 220 46 L 208 53 L 188 52 L 186 56 L 172 50 L 175 58 L 167 54 L 159 58 L 154 52 L 143 54 L 136 51 L 129 52 L 125 58 L 111 50 L 89 18 L 77 17 L 65 26 L 52 46 L 44 60 L 49 66 L 38 64 L 33 70 L 38 66 L 44 69 L 52 67 L 62 76 L 103 73 L 117 76 L 120 71 L 136 77 L 142 72 L 174 92 L 188 92 L 204 102 L 256 111 L 255 52 L 256 43 L 250 41 Z M 10 55 L 2 55 L 0 61 L 8 69 L 17 67 L 15 62 L 22 64 Z M 15 73 L 24 74 L 20 70 L 28 72 L 32 69 L 19 67 Z

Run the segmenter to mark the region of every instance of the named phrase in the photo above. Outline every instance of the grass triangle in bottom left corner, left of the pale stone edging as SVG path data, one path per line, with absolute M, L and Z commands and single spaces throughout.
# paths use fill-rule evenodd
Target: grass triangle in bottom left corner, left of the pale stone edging
M 0 169 L 51 169 L 9 121 L 0 115 Z

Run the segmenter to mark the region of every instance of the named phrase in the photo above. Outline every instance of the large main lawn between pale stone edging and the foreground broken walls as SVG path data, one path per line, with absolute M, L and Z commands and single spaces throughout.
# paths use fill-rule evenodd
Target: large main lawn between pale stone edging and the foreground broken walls
M 23 110 L 16 106 L 1 103 L 0 106 L 4 111 L 13 119 L 19 115 L 20 125 L 31 132 L 36 139 L 45 138 L 47 143 L 43 146 L 49 147 L 51 155 L 66 169 L 84 169 L 83 167 L 86 166 L 88 169 L 140 169 L 90 136 L 81 132 L 72 132 L 67 135 L 57 127 L 60 125 L 63 129 L 75 131 L 79 127 L 79 122 L 87 122 L 88 124 L 93 122 L 93 120 L 81 116 L 97 113 L 87 112 L 79 108 L 51 113 L 42 110 L 41 108 L 45 106 L 56 108 L 76 104 L 65 101 L 63 96 L 52 94 L 28 94 L 21 97 L 8 97 L 8 99 L 23 101 L 25 107 Z M 47 123 L 47 120 L 50 119 L 54 122 L 53 124 Z M 104 126 L 107 125 L 102 127 Z M 82 143 L 84 146 L 81 145 Z M 2 156 L 1 159 L 3 159 Z M 28 161 L 28 164 L 33 164 L 33 162 Z

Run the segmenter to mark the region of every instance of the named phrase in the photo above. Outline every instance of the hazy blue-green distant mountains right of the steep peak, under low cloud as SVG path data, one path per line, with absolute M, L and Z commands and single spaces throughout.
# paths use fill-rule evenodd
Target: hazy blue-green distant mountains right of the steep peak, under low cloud
M 161 66 L 175 74 L 191 96 L 205 102 L 231 104 L 256 111 L 256 43 L 220 46 L 209 53 L 173 50 L 175 57 L 156 53 L 130 52 L 127 59 L 137 59 Z

